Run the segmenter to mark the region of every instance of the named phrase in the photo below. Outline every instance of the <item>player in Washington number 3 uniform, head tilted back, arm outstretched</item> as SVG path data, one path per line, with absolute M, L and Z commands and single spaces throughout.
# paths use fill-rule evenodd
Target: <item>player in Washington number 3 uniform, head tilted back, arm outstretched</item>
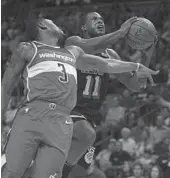
M 6 149 L 3 178 L 21 178 L 34 161 L 32 177 L 61 177 L 72 139 L 70 112 L 76 104 L 78 69 L 120 73 L 139 70 L 157 72 L 142 64 L 88 55 L 76 46 L 56 46 L 63 32 L 51 20 L 28 24 L 32 42 L 21 43 L 13 53 L 2 81 L 2 117 L 11 92 L 22 75 L 27 95 L 13 122 Z

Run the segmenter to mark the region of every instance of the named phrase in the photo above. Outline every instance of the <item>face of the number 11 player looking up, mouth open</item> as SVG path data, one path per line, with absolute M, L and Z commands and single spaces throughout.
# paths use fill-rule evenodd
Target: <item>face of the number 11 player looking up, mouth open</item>
M 94 12 L 87 16 L 86 30 L 92 37 L 101 36 L 105 34 L 104 20 L 100 14 Z

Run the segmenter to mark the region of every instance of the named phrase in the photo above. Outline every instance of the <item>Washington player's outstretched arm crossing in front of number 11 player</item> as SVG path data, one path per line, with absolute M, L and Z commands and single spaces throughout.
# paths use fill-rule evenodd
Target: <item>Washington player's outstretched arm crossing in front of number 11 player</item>
M 69 50 L 77 59 L 76 67 L 83 70 L 99 70 L 103 73 L 124 73 L 132 71 L 140 71 L 148 75 L 157 75 L 158 71 L 153 71 L 142 64 L 133 62 L 124 62 L 112 59 L 114 62 L 107 62 L 105 58 L 84 53 L 84 51 L 77 46 L 67 46 Z

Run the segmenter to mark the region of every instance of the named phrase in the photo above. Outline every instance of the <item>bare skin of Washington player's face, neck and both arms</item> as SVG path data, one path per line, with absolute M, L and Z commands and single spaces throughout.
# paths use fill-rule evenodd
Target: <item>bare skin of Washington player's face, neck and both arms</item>
M 63 37 L 63 31 L 56 26 L 51 20 L 42 19 L 37 23 L 38 26 L 38 38 L 39 42 L 46 45 L 56 46 L 59 39 Z M 76 67 L 79 69 L 98 69 L 102 72 L 108 73 L 121 73 L 123 71 L 133 71 L 136 69 L 135 63 L 128 63 L 122 61 L 115 61 L 114 64 L 107 62 L 104 58 L 85 54 L 84 51 L 77 46 L 66 46 L 66 49 L 71 51 L 75 56 Z M 21 43 L 19 47 L 13 52 L 11 57 L 11 63 L 4 73 L 2 80 L 2 121 L 4 114 L 14 87 L 17 85 L 20 79 L 20 75 L 23 73 L 26 65 L 30 62 L 35 53 L 35 49 L 30 43 Z M 156 74 L 145 66 L 141 65 L 140 70 L 145 72 L 151 72 Z

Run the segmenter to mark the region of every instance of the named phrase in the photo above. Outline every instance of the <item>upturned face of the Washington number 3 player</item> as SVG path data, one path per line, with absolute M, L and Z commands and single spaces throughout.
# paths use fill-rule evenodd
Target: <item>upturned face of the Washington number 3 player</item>
M 48 35 L 56 38 L 62 38 L 64 36 L 64 32 L 52 20 L 44 19 L 42 23 L 46 27 L 45 32 Z

